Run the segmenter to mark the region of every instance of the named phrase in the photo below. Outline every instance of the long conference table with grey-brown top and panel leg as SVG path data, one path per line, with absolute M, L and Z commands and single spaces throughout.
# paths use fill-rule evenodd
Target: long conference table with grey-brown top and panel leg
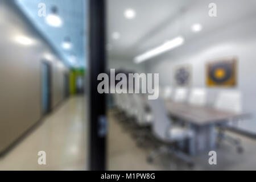
M 249 117 L 249 114 L 246 113 L 216 110 L 208 106 L 200 107 L 173 101 L 164 101 L 164 103 L 171 117 L 187 123 L 194 131 L 195 145 L 192 149 L 192 155 L 213 150 L 216 147 L 217 125 L 241 121 Z

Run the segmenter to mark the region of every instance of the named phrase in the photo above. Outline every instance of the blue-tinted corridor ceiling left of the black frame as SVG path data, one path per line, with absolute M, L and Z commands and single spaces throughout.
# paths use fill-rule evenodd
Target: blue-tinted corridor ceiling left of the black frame
M 28 16 L 49 43 L 64 57 L 70 67 L 85 67 L 85 10 L 84 0 L 16 0 L 17 5 Z M 46 4 L 46 16 L 51 13 L 53 6 L 63 22 L 61 27 L 52 27 L 46 23 L 45 17 L 38 16 L 39 3 Z M 71 49 L 64 49 L 62 43 L 69 37 Z M 75 58 L 74 58 L 75 57 Z M 71 60 L 75 59 L 75 61 Z

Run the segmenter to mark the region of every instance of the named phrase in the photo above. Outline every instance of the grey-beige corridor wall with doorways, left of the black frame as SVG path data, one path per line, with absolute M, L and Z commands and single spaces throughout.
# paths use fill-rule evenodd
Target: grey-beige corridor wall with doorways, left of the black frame
M 64 97 L 64 72 L 68 69 L 38 33 L 10 6 L 0 1 L 0 153 L 42 117 L 41 65 L 44 55 L 55 56 L 50 63 L 52 106 Z M 17 36 L 33 40 L 17 42 Z

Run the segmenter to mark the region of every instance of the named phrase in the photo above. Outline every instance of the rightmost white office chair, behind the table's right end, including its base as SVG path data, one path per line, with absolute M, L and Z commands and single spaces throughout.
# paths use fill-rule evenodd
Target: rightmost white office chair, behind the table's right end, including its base
M 235 113 L 240 113 L 242 111 L 242 95 L 239 91 L 222 91 L 217 96 L 216 103 L 214 105 L 215 109 L 231 111 Z M 237 152 L 242 153 L 243 147 L 241 146 L 241 141 L 237 138 L 233 138 L 230 135 L 225 134 L 225 130 L 234 127 L 234 121 L 229 121 L 219 126 L 218 131 L 218 145 L 222 140 L 227 140 L 233 143 L 237 147 Z

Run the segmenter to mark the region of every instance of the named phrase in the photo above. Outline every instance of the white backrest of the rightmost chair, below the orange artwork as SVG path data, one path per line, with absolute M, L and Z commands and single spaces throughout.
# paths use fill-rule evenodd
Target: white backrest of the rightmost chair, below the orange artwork
M 218 94 L 214 107 L 219 110 L 240 113 L 242 111 L 242 94 L 239 91 L 222 91 Z

